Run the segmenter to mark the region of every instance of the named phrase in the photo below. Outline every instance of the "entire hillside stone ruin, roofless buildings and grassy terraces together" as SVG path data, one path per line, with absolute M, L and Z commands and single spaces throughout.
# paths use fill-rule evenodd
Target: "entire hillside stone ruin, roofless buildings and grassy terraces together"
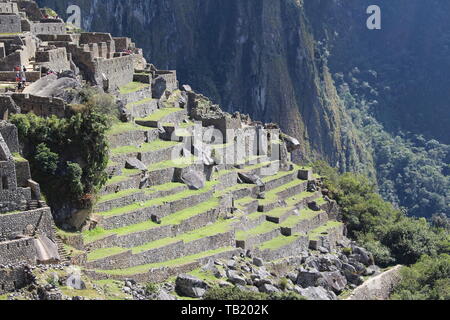
M 16 65 L 30 66 L 33 82 L 23 93 L 0 95 L 0 119 L 66 116 L 68 102 L 56 96 L 66 82 L 89 83 L 117 99 L 109 180 L 89 219 L 64 240 L 87 275 L 159 282 L 214 258 L 251 252 L 273 261 L 308 248 L 335 250 L 344 236 L 336 203 L 324 196 L 320 177 L 291 162 L 299 143 L 277 125 L 228 114 L 180 87 L 176 71 L 147 63 L 129 38 L 67 32 L 33 1 L 0 4 L 12 19 L 0 30 L 0 84 Z M 14 35 L 2 35 L 6 30 Z M 0 265 L 41 261 L 49 257 L 37 248 L 56 241 L 50 210 L 28 163 L 14 158 L 16 130 L 2 123 Z

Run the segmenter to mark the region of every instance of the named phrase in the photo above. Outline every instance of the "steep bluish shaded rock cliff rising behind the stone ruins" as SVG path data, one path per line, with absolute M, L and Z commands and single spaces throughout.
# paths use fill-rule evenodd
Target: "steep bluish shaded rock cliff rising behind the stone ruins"
M 69 1 L 40 1 L 64 16 Z M 128 35 L 159 68 L 177 69 L 227 111 L 280 123 L 342 169 L 370 163 L 343 113 L 303 1 L 70 1 L 83 28 Z M 130 5 L 132 3 L 132 5 Z

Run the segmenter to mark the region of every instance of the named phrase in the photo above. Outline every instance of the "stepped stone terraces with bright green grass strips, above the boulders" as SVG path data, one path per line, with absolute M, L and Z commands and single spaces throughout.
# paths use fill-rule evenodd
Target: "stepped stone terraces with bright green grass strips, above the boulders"
M 307 191 L 308 181 L 300 179 L 304 169 L 297 165 L 267 175 L 280 161 L 260 155 L 234 166 L 218 165 L 200 190 L 174 182 L 177 170 L 206 172 L 193 155 L 187 156 L 190 162 L 171 161 L 191 150 L 185 139 L 192 123 L 185 109 L 158 103 L 148 113 L 139 99 L 150 101 L 142 95 L 129 100 L 133 113 L 146 116 L 118 123 L 109 133 L 109 180 L 93 208 L 97 226 L 82 233 L 90 276 L 164 281 L 215 257 L 251 250 L 276 260 L 310 246 L 332 247 L 328 240 L 338 240 L 339 230 L 334 230 L 340 224 L 329 223 L 326 211 L 308 208 L 311 201 L 323 205 L 322 194 Z M 180 128 L 182 134 L 172 134 Z M 139 159 L 147 171 L 127 168 L 130 158 Z M 264 187 L 238 183 L 239 173 L 260 176 Z

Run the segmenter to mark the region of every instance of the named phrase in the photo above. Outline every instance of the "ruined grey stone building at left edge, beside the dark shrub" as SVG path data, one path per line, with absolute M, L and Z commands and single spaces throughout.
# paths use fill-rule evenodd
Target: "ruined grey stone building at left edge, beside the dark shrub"
M 17 128 L 0 121 L 0 265 L 55 262 L 59 253 L 50 208 L 18 152 Z M 12 276 L 21 274 L 5 271 L 11 279 L 0 277 L 0 291 L 18 288 L 22 282 Z

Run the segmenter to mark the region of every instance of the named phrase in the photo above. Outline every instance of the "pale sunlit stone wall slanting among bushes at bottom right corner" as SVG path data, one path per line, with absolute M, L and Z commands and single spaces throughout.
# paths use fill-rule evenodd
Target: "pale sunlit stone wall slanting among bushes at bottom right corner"
M 398 265 L 385 271 L 357 287 L 347 300 L 387 300 L 394 287 L 401 280 L 400 270 L 403 266 Z

